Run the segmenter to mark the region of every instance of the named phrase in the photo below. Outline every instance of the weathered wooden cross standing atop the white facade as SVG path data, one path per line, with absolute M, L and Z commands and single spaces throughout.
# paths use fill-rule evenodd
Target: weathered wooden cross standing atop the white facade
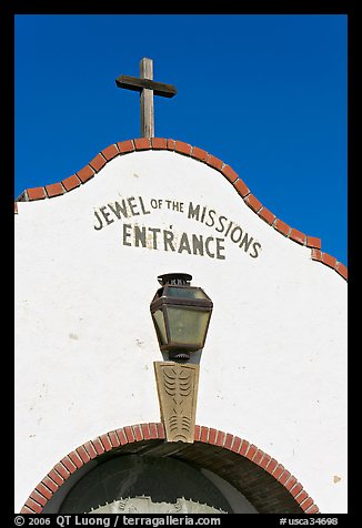
M 173 98 L 178 93 L 172 84 L 153 81 L 153 61 L 143 58 L 140 62 L 140 78 L 120 75 L 115 79 L 118 88 L 140 92 L 141 138 L 154 138 L 153 93 L 163 98 Z

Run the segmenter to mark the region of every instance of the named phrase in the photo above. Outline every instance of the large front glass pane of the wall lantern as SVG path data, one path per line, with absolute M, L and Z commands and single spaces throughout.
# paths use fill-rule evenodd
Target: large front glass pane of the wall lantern
M 190 349 L 202 348 L 210 318 L 209 311 L 168 306 L 168 316 L 172 343 L 190 344 Z

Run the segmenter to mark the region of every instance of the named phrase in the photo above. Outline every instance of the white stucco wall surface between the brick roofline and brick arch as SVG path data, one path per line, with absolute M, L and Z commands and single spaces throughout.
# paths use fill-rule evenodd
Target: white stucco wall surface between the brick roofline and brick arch
M 107 204 L 132 196 L 134 215 L 118 220 Z M 172 231 L 174 241 L 183 232 L 223 238 L 221 224 L 188 219 L 190 202 L 241 226 L 261 244 L 259 255 L 229 235 L 223 260 L 164 251 L 162 242 L 135 247 L 131 236 L 123 244 L 123 224 L 135 223 Z M 197 424 L 267 451 L 322 512 L 346 511 L 346 283 L 336 272 L 258 217 L 218 171 L 174 152 L 115 158 L 84 185 L 18 209 L 17 511 L 79 445 L 159 422 L 153 361 L 161 354 L 149 305 L 157 276 L 169 272 L 190 273 L 214 303 Z

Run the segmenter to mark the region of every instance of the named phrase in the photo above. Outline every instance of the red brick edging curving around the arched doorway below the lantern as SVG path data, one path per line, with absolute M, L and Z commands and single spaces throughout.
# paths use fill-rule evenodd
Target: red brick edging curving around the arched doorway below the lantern
M 164 439 L 163 425 L 161 423 L 150 423 L 124 426 L 87 441 L 56 464 L 32 490 L 21 508 L 20 514 L 41 514 L 48 500 L 58 491 L 67 478 L 84 466 L 89 460 L 103 455 L 105 451 L 119 449 L 120 446 L 125 444 L 162 439 Z M 275 480 L 291 494 L 304 514 L 320 512 L 314 500 L 308 495 L 305 489 L 303 489 L 303 486 L 298 481 L 296 477 L 274 458 L 248 440 L 212 427 L 197 425 L 194 441 L 218 446 L 248 458 L 274 477 Z

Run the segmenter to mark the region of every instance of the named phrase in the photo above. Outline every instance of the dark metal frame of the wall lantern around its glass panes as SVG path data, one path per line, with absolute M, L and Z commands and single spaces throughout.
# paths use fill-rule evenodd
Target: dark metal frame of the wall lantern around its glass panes
M 187 273 L 168 273 L 163 275 L 159 275 L 158 277 L 161 287 L 157 291 L 151 305 L 150 311 L 152 315 L 153 325 L 155 328 L 159 347 L 160 351 L 169 352 L 171 354 L 181 353 L 180 357 L 189 358 L 189 353 L 197 352 L 202 349 L 207 339 L 208 329 L 210 325 L 213 303 L 211 298 L 207 295 L 207 293 L 198 286 L 191 286 L 192 276 Z M 172 288 L 172 295 L 170 295 L 170 288 Z M 175 295 L 175 292 L 180 290 L 180 296 Z M 191 296 L 185 297 L 182 296 L 182 293 L 185 293 L 188 290 L 190 293 L 194 293 L 195 296 L 192 298 Z M 197 298 L 197 293 L 200 292 L 201 298 Z M 190 312 L 199 312 L 209 314 L 205 327 L 203 328 L 203 336 L 201 343 L 179 343 L 177 341 L 172 341 L 172 328 L 169 317 L 169 309 L 172 307 L 183 307 L 184 309 L 189 309 Z M 159 329 L 159 325 L 155 322 L 154 313 L 157 311 L 162 312 L 163 323 L 164 323 L 164 332 L 165 332 L 165 343 L 163 343 L 162 335 Z M 182 353 L 184 355 L 182 355 Z M 175 356 L 177 357 L 177 356 Z

